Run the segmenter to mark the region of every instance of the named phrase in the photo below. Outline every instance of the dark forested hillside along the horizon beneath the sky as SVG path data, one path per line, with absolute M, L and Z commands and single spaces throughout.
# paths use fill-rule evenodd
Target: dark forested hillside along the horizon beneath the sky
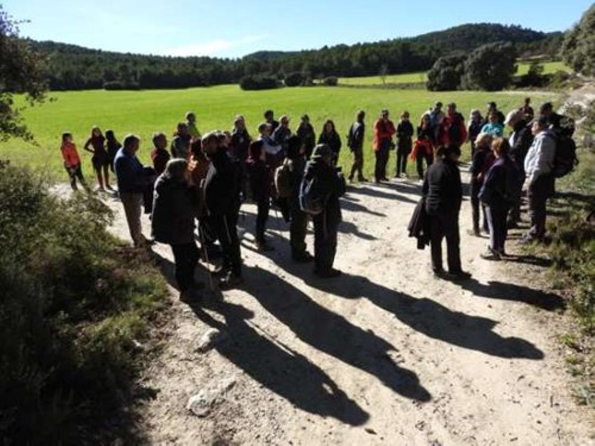
M 518 26 L 467 24 L 407 39 L 356 45 L 324 46 L 299 52 L 261 51 L 241 59 L 121 54 L 55 42 L 31 42 L 49 56 L 52 90 L 183 88 L 235 83 L 251 74 L 301 71 L 307 76 L 370 76 L 381 70 L 406 73 L 428 70 L 444 54 L 469 51 L 506 40 L 520 55 L 556 55 L 561 33 L 541 33 Z

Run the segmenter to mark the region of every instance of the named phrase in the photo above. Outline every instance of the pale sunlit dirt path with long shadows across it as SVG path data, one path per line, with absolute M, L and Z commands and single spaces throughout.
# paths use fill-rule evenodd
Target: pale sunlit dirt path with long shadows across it
M 167 347 L 143 379 L 158 390 L 143 408 L 148 441 L 593 444 L 592 413 L 566 387 L 562 302 L 540 290 L 541 261 L 481 260 L 487 240 L 466 234 L 465 201 L 462 259 L 474 278 L 434 279 L 428 250 L 405 229 L 418 193 L 413 181 L 350 189 L 336 261 L 345 275 L 332 281 L 290 262 L 274 212 L 272 255 L 255 253 L 244 234 L 242 290 L 206 309 L 174 303 Z M 115 233 L 128 238 L 111 205 Z M 255 208 L 243 211 L 251 232 Z M 168 247 L 155 250 L 171 268 Z M 228 339 L 199 353 L 212 328 Z M 186 409 L 201 391 L 214 398 L 204 417 Z

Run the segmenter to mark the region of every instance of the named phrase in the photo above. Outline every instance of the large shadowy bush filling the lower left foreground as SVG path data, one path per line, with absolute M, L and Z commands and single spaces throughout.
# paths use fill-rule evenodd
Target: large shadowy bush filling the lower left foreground
M 109 237 L 92 196 L 60 200 L 0 167 L 0 443 L 123 434 L 140 355 L 164 304 L 160 275 Z M 136 344 L 137 345 L 137 344 Z

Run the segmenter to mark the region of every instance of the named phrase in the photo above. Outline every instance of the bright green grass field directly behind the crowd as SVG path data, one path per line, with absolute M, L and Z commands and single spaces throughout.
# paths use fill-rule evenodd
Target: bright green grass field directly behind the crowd
M 273 108 L 275 115 L 288 114 L 291 127 L 296 128 L 299 117 L 308 113 L 317 133 L 327 118 L 335 121 L 343 139 L 340 164 L 347 170 L 351 155 L 345 146 L 345 135 L 356 111 L 364 109 L 367 117 L 367 144 L 365 146 L 368 175 L 373 169 L 374 153 L 371 149 L 372 124 L 382 108 L 392 111 L 397 121 L 400 112 L 411 112 L 417 123 L 419 116 L 436 100 L 455 101 L 459 110 L 468 116 L 471 108 L 484 109 L 488 100 L 496 100 L 503 111 L 521 105 L 525 93 L 502 92 L 427 92 L 425 90 L 353 89 L 350 87 L 295 87 L 264 92 L 244 92 L 236 85 L 187 90 L 147 90 L 141 92 L 107 92 L 92 90 L 85 92 L 51 93 L 56 100 L 41 106 L 26 109 L 24 116 L 30 130 L 35 134 L 39 146 L 21 140 L 0 144 L 0 159 L 10 159 L 12 164 L 32 165 L 45 168 L 67 180 L 62 168 L 60 135 L 71 131 L 83 158 L 83 170 L 87 178 L 92 177 L 91 154 L 82 150 L 92 125 L 102 130 L 111 128 L 118 139 L 126 133 L 136 133 L 142 138 L 140 158 L 148 162 L 151 149 L 151 134 L 164 131 L 171 135 L 176 123 L 183 120 L 184 113 L 196 112 L 199 129 L 209 130 L 231 128 L 237 114 L 246 117 L 250 134 L 256 134 L 256 127 L 262 121 L 262 113 Z M 17 98 L 19 102 L 21 98 Z M 555 100 L 552 95 L 534 95 L 537 105 L 544 100 Z M 410 163 L 409 169 L 414 172 Z M 394 154 L 391 155 L 390 171 L 394 171 Z

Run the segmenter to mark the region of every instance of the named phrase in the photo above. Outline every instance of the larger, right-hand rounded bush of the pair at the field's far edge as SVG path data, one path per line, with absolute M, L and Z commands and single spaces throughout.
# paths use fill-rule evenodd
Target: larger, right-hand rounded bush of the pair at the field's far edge
M 516 51 L 509 42 L 488 43 L 465 61 L 461 86 L 466 90 L 502 90 L 516 73 Z

